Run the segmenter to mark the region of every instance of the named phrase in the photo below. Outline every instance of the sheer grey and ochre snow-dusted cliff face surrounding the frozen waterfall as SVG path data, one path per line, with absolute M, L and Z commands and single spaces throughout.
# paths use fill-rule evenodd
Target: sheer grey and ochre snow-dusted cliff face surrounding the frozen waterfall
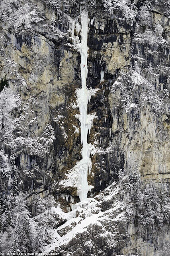
M 158 191 L 169 185 L 170 6 L 156 0 L 2 0 L 0 8 L 1 201 L 20 191 L 30 203 L 53 194 L 63 210 L 59 225 L 79 202 L 74 181 L 67 181 L 81 159 L 73 106 L 81 87 L 76 43 L 86 9 L 86 83 L 98 89 L 88 104 L 88 114 L 96 115 L 88 134 L 94 145 L 88 184 L 94 188 L 88 203 L 78 203 L 70 220 L 53 227 L 55 244 L 50 240 L 41 250 L 161 255 L 167 220 L 162 217 L 161 228 L 153 216 L 149 227 L 140 222 L 144 213 L 133 200 L 138 187 L 128 177 L 132 170 L 140 173 L 141 198 L 150 182 Z

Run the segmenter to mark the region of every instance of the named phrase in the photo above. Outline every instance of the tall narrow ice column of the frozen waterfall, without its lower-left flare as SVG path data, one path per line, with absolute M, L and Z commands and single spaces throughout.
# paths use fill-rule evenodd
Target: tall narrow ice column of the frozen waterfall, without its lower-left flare
M 88 12 L 85 10 L 81 14 L 81 43 L 78 44 L 78 50 L 81 55 L 81 79 L 82 88 L 77 90 L 77 106 L 80 110 L 78 118 L 80 120 L 81 130 L 81 143 L 82 143 L 82 160 L 78 164 L 80 172 L 80 186 L 78 187 L 78 196 L 80 200 L 87 199 L 87 193 L 92 189 L 92 186 L 88 186 L 88 171 L 91 171 L 92 162 L 90 159 L 91 144 L 87 143 L 88 132 L 92 126 L 95 115 L 87 114 L 87 105 L 91 96 L 95 93 L 93 90 L 86 88 L 86 78 L 88 74 L 87 57 L 88 57 Z

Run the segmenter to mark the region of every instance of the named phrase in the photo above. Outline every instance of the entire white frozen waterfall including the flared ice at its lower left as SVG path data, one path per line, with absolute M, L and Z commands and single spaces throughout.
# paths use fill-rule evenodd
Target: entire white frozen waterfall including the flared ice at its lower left
M 80 31 L 80 26 L 76 24 L 77 34 Z M 73 34 L 73 32 L 72 32 Z M 78 36 L 77 36 L 78 38 Z M 92 95 L 95 95 L 97 90 L 88 89 L 86 87 L 86 78 L 88 74 L 87 58 L 88 58 L 88 12 L 85 10 L 81 12 L 81 43 L 76 40 L 75 48 L 78 49 L 81 55 L 81 80 L 82 88 L 76 90 L 77 105 L 72 105 L 73 108 L 79 108 L 80 114 L 76 114 L 75 117 L 80 121 L 80 131 L 81 131 L 81 143 L 82 143 L 82 160 L 77 162 L 76 165 L 69 170 L 66 174 L 67 179 L 61 181 L 63 187 L 75 187 L 77 188 L 77 195 L 80 201 L 87 200 L 88 191 L 90 191 L 93 186 L 88 185 L 88 172 L 90 173 L 92 169 L 92 161 L 90 159 L 90 153 L 94 146 L 87 143 L 88 132 L 93 124 L 93 119 L 96 117 L 95 114 L 87 114 L 88 102 Z M 76 126 L 74 126 L 76 128 Z M 78 130 L 76 128 L 76 130 Z M 72 206 L 74 208 L 74 206 Z

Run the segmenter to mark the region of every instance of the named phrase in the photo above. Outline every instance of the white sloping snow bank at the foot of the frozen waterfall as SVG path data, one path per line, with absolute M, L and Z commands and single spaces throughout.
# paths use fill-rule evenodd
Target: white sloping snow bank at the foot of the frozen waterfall
M 110 194 L 111 192 L 111 194 Z M 72 239 L 76 238 L 78 234 L 84 234 L 84 232 L 89 232 L 89 228 L 92 227 L 93 224 L 98 226 L 98 229 L 101 229 L 100 236 L 109 236 L 111 242 L 114 243 L 116 230 L 114 232 L 108 232 L 105 225 L 108 225 L 109 222 L 113 226 L 114 223 L 124 222 L 126 220 L 127 208 L 125 206 L 125 202 L 119 202 L 118 200 L 113 200 L 115 196 L 120 192 L 119 185 L 113 183 L 109 187 L 107 187 L 101 194 L 99 194 L 96 198 L 99 200 L 95 200 L 94 198 L 88 198 L 88 201 L 82 201 L 76 204 L 76 209 L 72 212 L 67 213 L 68 221 L 65 222 L 62 226 L 57 228 L 54 232 L 57 235 L 57 240 L 53 244 L 49 244 L 44 247 L 44 252 L 50 252 L 53 250 L 63 250 L 63 246 L 67 246 Z M 105 201 L 106 203 L 113 201 L 113 206 L 106 210 L 102 211 L 101 205 Z M 132 212 L 129 210 L 129 216 Z M 79 215 L 78 217 L 76 217 Z M 74 222 L 74 226 L 72 223 Z M 76 226 L 75 226 L 76 223 Z M 58 238 L 58 232 L 67 228 L 71 228 L 70 231 L 66 231 L 65 235 Z

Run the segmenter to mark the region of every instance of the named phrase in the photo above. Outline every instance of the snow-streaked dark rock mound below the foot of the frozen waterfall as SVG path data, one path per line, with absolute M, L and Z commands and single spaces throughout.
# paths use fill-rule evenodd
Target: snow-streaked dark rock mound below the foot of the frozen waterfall
M 82 246 L 94 252 L 100 250 L 96 246 L 99 241 L 108 250 L 121 246 L 124 243 L 121 238 L 125 235 L 124 223 L 133 216 L 131 207 L 119 200 L 122 193 L 119 184 L 113 182 L 95 198 L 77 203 L 76 208 L 67 213 L 68 220 L 57 228 L 61 237 L 55 243 L 45 246 L 43 252 L 54 250 L 68 255 L 67 252 L 74 252 Z

